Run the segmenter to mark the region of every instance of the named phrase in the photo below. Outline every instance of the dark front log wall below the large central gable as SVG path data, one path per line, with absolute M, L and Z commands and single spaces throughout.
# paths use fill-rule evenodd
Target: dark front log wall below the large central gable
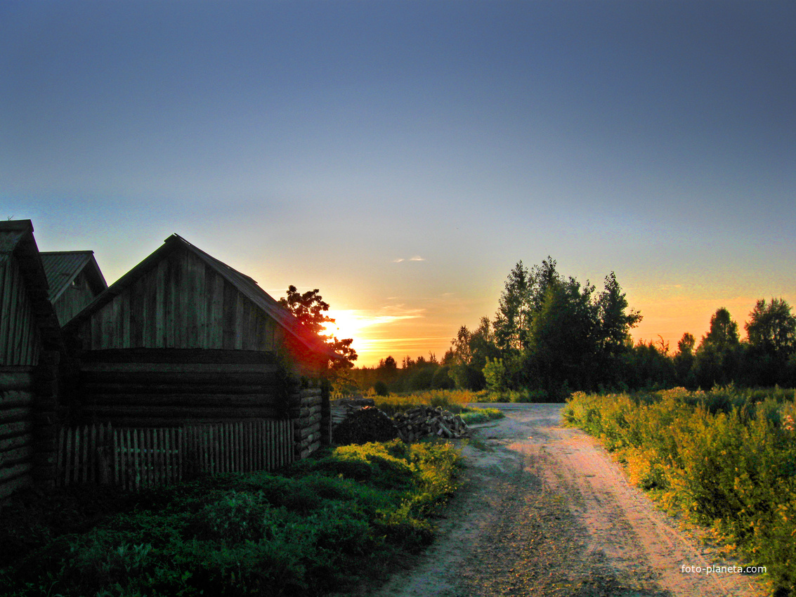
M 84 353 L 72 396 L 80 423 L 120 427 L 286 419 L 291 399 L 271 353 L 180 349 Z

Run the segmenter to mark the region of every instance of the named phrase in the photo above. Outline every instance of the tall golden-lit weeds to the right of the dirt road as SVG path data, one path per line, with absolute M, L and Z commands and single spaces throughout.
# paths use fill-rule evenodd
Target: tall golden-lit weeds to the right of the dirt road
M 661 505 L 796 595 L 794 390 L 579 392 L 564 417 L 602 439 Z

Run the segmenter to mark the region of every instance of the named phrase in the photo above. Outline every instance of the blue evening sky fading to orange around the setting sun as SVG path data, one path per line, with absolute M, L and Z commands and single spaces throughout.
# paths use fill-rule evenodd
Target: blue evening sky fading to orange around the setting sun
M 357 365 L 509 271 L 615 271 L 634 339 L 796 305 L 796 3 L 0 0 L 0 217 L 107 282 L 176 232 Z

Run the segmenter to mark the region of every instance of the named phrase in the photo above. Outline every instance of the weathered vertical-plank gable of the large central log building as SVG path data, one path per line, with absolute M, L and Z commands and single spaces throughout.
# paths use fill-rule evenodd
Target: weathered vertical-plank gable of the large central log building
M 195 252 L 172 246 L 80 322 L 82 348 L 274 350 L 275 320 Z

